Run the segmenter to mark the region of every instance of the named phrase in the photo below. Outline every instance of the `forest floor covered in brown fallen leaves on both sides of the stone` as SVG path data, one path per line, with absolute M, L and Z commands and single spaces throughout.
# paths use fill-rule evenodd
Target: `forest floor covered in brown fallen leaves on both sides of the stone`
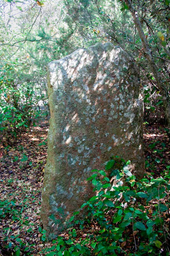
M 45 255 L 52 242 L 42 241 L 40 220 L 41 187 L 47 157 L 48 121 L 31 127 L 11 140 L 11 146 L 0 145 L 0 255 Z M 164 127 L 144 127 L 146 171 L 154 178 L 170 165 L 170 143 Z M 4 211 L 4 212 L 3 212 Z M 3 215 L 4 214 L 4 215 Z M 82 236 L 82 231 L 79 236 Z M 88 233 L 88 231 L 87 231 Z M 68 237 L 68 232 L 62 236 Z M 24 244 L 24 246 L 22 246 Z M 31 249 L 30 249 L 31 248 Z M 30 254 L 28 254 L 28 252 Z

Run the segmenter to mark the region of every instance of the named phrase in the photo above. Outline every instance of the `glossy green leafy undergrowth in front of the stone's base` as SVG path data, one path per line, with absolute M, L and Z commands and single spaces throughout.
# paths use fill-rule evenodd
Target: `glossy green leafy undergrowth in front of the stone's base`
M 160 178 L 154 179 L 153 173 L 147 172 L 138 180 L 129 164 L 116 156 L 107 162 L 105 171 L 92 170 L 87 180 L 92 180 L 96 196 L 81 206 L 86 207 L 85 219 L 77 220 L 79 212 L 75 212 L 68 239 L 58 236 L 41 255 L 169 255 L 170 166 Z M 15 220 L 15 203 L 0 204 L 0 218 L 11 215 Z M 96 228 L 80 237 L 77 230 L 83 234 L 87 226 Z M 40 227 L 39 232 L 46 241 L 46 231 Z M 17 236 L 9 238 L 7 234 L 6 241 L 6 248 L 13 246 L 14 255 L 32 255 L 31 245 L 29 250 Z

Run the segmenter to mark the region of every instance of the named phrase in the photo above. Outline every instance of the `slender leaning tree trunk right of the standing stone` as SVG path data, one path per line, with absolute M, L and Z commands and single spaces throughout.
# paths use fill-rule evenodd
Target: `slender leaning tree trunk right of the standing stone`
M 153 75 L 155 77 L 155 80 L 157 82 L 157 86 L 158 86 L 158 88 L 161 92 L 162 99 L 163 99 L 163 106 L 164 106 L 164 110 L 165 110 L 166 121 L 167 121 L 168 128 L 170 129 L 170 94 L 169 94 L 169 91 L 168 91 L 168 86 L 166 86 L 166 84 L 164 84 L 162 82 L 162 78 L 159 75 L 157 65 L 156 65 L 156 63 L 153 59 L 151 49 L 149 48 L 149 45 L 147 43 L 146 37 L 144 35 L 143 28 L 141 26 L 141 23 L 139 21 L 138 15 L 137 15 L 137 11 L 135 10 L 135 8 L 132 5 L 132 1 L 131 0 L 126 0 L 126 4 L 129 7 L 129 11 L 132 14 L 133 20 L 135 22 L 135 25 L 137 27 L 139 36 L 141 38 L 142 45 L 143 45 L 143 48 L 144 48 L 144 56 L 148 60 L 148 64 L 149 64 L 149 66 L 152 70 L 152 73 L 153 73 Z

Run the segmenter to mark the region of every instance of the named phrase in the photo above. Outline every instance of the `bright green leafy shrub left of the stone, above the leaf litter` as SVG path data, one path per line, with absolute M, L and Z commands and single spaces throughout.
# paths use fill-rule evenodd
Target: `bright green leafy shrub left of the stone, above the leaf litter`
M 16 62 L 3 63 L 0 72 L 0 131 L 17 135 L 29 127 L 40 114 L 38 102 L 44 96 L 35 95 L 30 82 L 20 81 Z

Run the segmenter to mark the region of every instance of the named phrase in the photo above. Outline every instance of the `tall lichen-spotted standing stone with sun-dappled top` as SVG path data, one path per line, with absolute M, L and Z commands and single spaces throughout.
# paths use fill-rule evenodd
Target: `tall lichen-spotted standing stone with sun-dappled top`
M 111 43 L 81 48 L 48 65 L 50 127 L 41 219 L 49 239 L 68 225 L 92 193 L 92 169 L 110 156 L 144 172 L 139 70 Z

